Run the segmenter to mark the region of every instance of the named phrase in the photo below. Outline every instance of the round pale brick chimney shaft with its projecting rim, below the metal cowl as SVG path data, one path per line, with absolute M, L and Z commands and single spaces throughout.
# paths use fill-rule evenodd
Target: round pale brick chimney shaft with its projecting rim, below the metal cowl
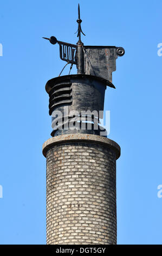
M 120 147 L 96 135 L 50 138 L 47 244 L 116 243 L 116 159 Z

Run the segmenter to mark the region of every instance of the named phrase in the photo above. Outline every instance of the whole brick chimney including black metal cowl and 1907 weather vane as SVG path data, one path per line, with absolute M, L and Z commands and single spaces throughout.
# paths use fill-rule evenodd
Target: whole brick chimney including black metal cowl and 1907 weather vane
M 119 145 L 100 126 L 107 87 L 112 84 L 122 47 L 84 46 L 80 8 L 76 45 L 60 46 L 60 58 L 77 66 L 76 75 L 46 84 L 51 138 L 43 144 L 47 160 L 47 244 L 116 244 L 116 160 Z

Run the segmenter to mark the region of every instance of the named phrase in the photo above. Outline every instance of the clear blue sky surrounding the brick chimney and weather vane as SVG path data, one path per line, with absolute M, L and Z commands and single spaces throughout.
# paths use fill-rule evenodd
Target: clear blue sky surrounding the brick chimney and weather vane
M 46 159 L 50 137 L 46 82 L 65 64 L 59 46 L 42 36 L 76 44 L 78 1 L 1 1 L 0 243 L 46 243 Z M 160 0 L 80 0 L 85 45 L 125 48 L 116 60 L 105 110 L 109 138 L 121 147 L 117 161 L 119 244 L 161 244 L 161 37 Z M 69 67 L 63 75 L 68 74 Z M 72 74 L 75 74 L 75 68 Z

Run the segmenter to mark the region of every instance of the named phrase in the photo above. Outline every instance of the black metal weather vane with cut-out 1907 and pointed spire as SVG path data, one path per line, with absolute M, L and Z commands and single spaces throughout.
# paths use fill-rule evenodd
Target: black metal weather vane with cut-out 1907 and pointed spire
M 53 45 L 59 44 L 60 58 L 67 62 L 66 65 L 71 64 L 70 70 L 75 64 L 77 74 L 98 76 L 112 82 L 112 72 L 116 70 L 116 58 L 124 55 L 124 48 L 116 46 L 84 46 L 81 41 L 81 33 L 85 34 L 81 28 L 80 5 L 78 5 L 78 19 L 76 22 L 78 23 L 76 33 L 79 38 L 76 45 L 58 41 L 55 36 L 43 38 L 49 40 Z M 114 87 L 113 84 L 111 87 Z

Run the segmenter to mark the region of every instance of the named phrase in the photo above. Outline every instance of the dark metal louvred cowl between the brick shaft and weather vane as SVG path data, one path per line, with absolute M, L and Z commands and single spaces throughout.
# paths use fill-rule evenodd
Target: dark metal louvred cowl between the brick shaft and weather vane
M 106 84 L 103 81 L 106 80 L 90 75 L 71 75 L 59 77 L 59 79 L 53 78 L 48 81 L 46 90 L 49 94 L 49 114 L 52 116 L 53 132 L 51 132 L 51 136 L 70 133 L 100 135 L 100 131 L 103 132 L 103 128 L 99 125 L 99 116 L 102 118 L 99 112 L 103 111 L 106 90 Z M 65 106 L 66 113 L 64 112 Z M 58 115 L 58 111 L 62 114 Z M 64 125 L 73 119 L 73 114 L 69 115 L 69 113 L 75 113 L 76 111 L 75 120 L 79 123 L 79 126 L 74 130 L 64 129 Z M 86 114 L 80 120 L 82 111 L 85 111 Z M 93 117 L 89 116 L 88 113 L 90 112 L 88 111 L 94 111 Z M 90 129 L 88 127 L 89 118 L 92 121 Z M 61 129 L 57 124 L 59 120 L 63 121 Z M 81 129 L 82 122 L 86 124 L 84 129 Z M 96 125 L 98 129 L 96 129 Z

